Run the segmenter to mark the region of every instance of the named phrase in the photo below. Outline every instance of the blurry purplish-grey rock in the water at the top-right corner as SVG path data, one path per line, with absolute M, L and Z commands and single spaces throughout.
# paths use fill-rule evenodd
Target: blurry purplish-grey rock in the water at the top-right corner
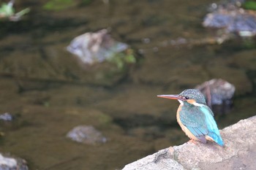
M 239 7 L 243 2 L 236 0 L 227 4 L 212 4 L 215 8 L 206 15 L 203 26 L 223 28 L 227 33 L 237 33 L 240 36 L 255 36 L 256 12 Z

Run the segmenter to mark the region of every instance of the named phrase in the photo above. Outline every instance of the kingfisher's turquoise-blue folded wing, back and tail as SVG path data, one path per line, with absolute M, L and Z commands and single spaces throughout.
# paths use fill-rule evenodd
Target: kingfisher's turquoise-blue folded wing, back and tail
M 206 136 L 210 136 L 217 144 L 223 146 L 219 128 L 214 120 L 214 114 L 207 106 L 187 107 L 180 112 L 181 123 L 200 140 L 206 143 Z

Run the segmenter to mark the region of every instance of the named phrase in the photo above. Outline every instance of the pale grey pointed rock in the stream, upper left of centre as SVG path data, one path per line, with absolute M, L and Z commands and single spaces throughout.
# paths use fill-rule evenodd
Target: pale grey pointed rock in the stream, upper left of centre
M 77 55 L 83 63 L 92 64 L 109 60 L 127 48 L 128 45 L 114 40 L 107 29 L 102 29 L 77 36 L 67 50 Z

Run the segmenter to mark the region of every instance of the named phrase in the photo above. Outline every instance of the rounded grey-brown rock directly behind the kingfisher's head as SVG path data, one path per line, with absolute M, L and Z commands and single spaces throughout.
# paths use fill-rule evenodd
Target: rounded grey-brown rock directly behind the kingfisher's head
M 234 85 L 222 79 L 213 79 L 203 82 L 203 84 L 197 85 L 196 88 L 203 93 L 206 97 L 208 107 L 211 108 L 214 105 L 222 105 L 223 107 L 230 108 L 236 90 Z

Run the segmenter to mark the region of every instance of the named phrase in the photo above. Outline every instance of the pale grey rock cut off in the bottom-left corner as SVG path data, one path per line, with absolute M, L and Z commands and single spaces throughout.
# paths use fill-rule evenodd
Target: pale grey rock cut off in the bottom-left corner
M 0 153 L 0 169 L 1 170 L 28 170 L 26 161 L 20 158 L 4 157 Z

